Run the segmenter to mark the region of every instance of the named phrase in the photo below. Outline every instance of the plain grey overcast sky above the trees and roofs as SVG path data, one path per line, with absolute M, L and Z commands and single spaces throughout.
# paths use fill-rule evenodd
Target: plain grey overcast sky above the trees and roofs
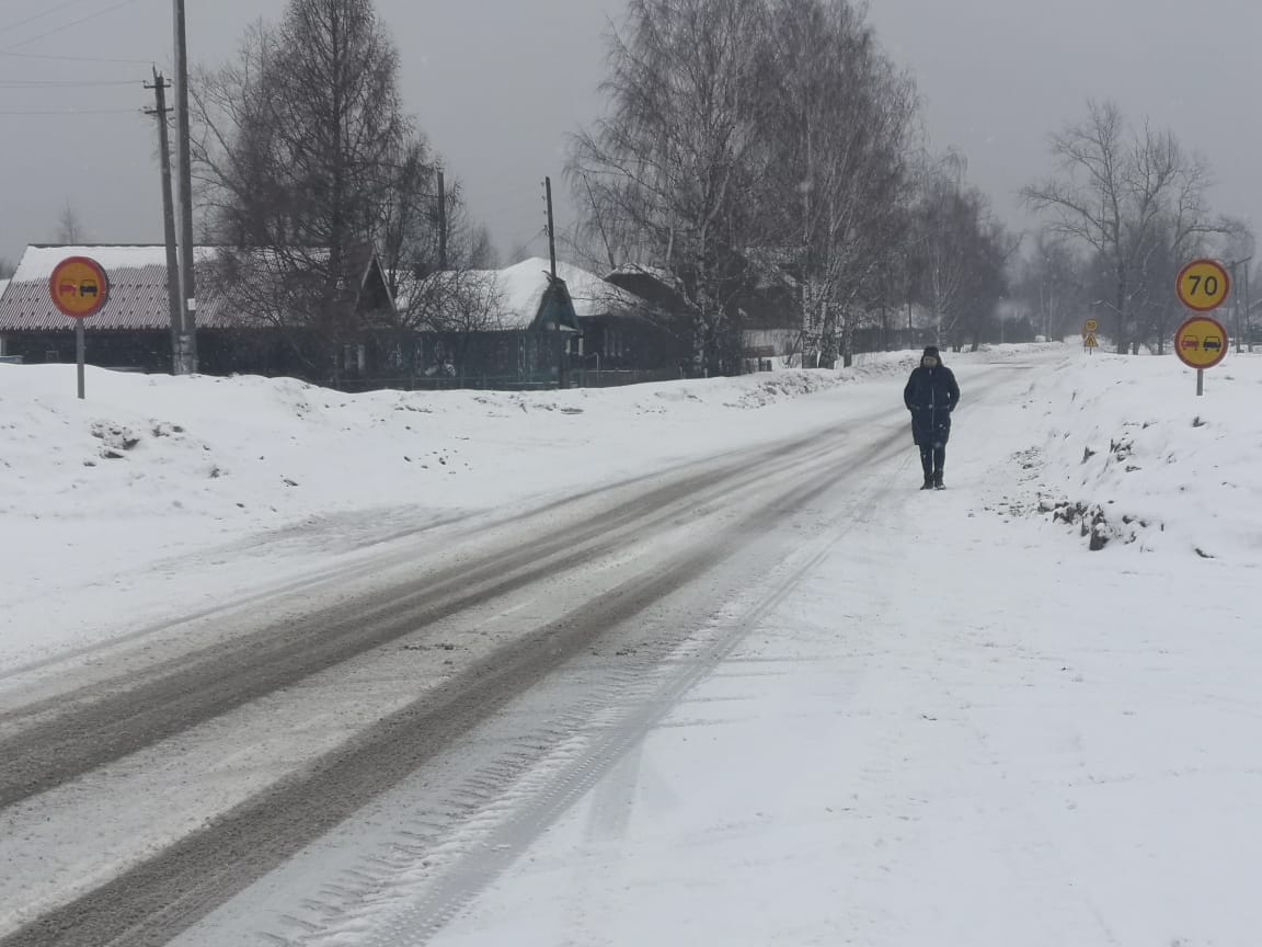
M 251 19 L 278 18 L 285 0 L 187 3 L 191 57 L 213 64 L 232 54 Z M 160 239 L 154 122 L 139 109 L 151 104 L 146 63 L 169 67 L 170 8 L 0 0 L 0 256 L 52 240 L 67 202 L 93 242 Z M 377 0 L 401 51 L 406 106 L 506 255 L 546 250 L 540 182 L 560 178 L 567 135 L 599 111 L 602 32 L 622 8 Z M 872 0 L 871 18 L 916 76 L 934 148 L 960 149 L 970 181 L 1011 225 L 1029 225 L 1016 191 L 1050 170 L 1047 134 L 1082 115 L 1088 96 L 1171 126 L 1210 160 L 1215 208 L 1262 222 L 1253 107 L 1262 4 Z M 50 56 L 111 62 L 40 58 Z M 559 197 L 565 227 L 572 211 Z

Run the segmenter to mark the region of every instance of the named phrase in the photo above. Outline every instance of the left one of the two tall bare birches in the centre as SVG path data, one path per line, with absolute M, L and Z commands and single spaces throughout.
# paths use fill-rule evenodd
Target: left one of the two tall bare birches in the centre
M 610 114 L 577 138 L 569 165 L 623 261 L 680 277 L 708 371 L 732 365 L 733 301 L 746 285 L 740 251 L 766 159 L 767 23 L 764 0 L 631 0 L 626 33 L 610 39 Z

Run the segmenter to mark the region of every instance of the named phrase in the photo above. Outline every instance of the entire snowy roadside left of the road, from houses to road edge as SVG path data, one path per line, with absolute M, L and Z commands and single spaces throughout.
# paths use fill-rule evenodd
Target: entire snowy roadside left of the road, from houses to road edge
M 0 365 L 0 665 L 428 523 L 781 436 L 777 404 L 839 383 L 798 371 L 345 395 L 292 379 L 90 369 L 80 402 L 73 366 Z

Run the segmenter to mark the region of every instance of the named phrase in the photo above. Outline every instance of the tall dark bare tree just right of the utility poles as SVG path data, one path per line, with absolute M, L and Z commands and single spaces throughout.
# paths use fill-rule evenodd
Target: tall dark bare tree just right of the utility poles
M 289 0 L 194 95 L 212 236 L 241 247 L 236 271 L 259 278 L 230 285 L 247 311 L 304 340 L 321 379 L 338 379 L 358 332 L 357 259 L 405 152 L 398 69 L 371 0 Z M 240 299 L 260 293 L 271 298 Z

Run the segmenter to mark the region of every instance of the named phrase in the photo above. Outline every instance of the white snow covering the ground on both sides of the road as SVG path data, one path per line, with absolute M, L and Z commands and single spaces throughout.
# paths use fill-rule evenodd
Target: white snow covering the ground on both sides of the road
M 447 876 L 476 883 L 438 891 L 442 854 L 377 870 L 403 787 L 327 843 L 353 851 L 336 885 L 313 846 L 179 943 L 1259 943 L 1262 355 L 1199 399 L 1172 357 L 948 359 L 948 491 L 915 489 L 909 434 L 871 472 L 906 491 L 848 523 L 822 501 L 806 567 L 712 609 L 714 635 L 758 620 L 641 739 L 529 802 L 593 759 L 575 732 L 471 821 Z M 521 395 L 93 371 L 83 404 L 72 371 L 0 366 L 0 669 L 876 415 L 911 364 Z M 1020 394 L 970 403 L 983 367 Z

